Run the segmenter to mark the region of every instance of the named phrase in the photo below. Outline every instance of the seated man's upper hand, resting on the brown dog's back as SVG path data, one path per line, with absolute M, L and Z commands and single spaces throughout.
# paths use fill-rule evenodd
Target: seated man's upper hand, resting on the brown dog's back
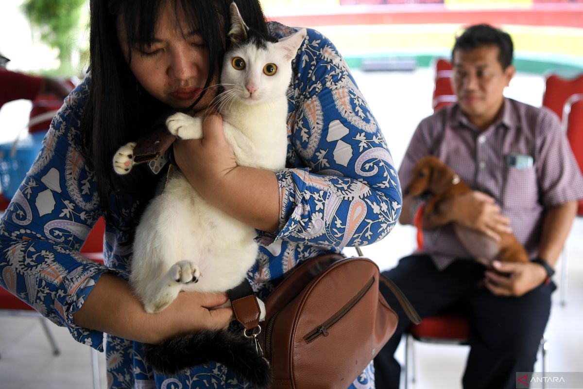
M 457 196 L 450 206 L 453 222 L 478 230 L 496 241 L 500 240 L 500 233 L 512 232 L 510 219 L 501 215 L 494 198 L 483 192 Z

